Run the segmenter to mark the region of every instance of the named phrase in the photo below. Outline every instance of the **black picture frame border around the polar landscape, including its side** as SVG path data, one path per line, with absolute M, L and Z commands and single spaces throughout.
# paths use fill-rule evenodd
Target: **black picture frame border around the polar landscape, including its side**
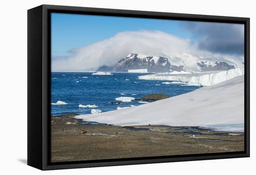
M 50 162 L 50 92 L 51 92 L 51 12 L 90 14 L 102 16 L 175 19 L 244 24 L 244 151 L 122 158 L 78 162 Z M 143 163 L 179 162 L 208 159 L 249 157 L 249 18 L 146 12 L 76 6 L 41 5 L 27 11 L 27 164 L 41 170 L 73 169 Z

